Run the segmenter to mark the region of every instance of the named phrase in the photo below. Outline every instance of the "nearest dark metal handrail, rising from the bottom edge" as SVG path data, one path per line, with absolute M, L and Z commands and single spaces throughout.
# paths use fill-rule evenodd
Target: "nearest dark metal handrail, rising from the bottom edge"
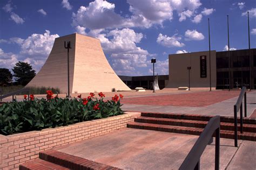
M 187 157 L 179 167 L 179 170 L 200 169 L 200 157 L 205 147 L 212 139 L 215 132 L 215 170 L 219 169 L 220 160 L 220 116 L 215 116 L 205 126 L 204 131 L 200 134 L 196 143 L 187 154 Z

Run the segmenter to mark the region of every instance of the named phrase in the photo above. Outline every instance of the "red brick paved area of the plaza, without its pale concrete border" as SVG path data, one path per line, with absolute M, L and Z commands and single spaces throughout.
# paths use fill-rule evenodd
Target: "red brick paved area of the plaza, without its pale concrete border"
M 240 91 L 203 91 L 186 94 L 124 98 L 122 103 L 161 106 L 172 105 L 178 107 L 206 107 L 236 97 L 239 94 Z

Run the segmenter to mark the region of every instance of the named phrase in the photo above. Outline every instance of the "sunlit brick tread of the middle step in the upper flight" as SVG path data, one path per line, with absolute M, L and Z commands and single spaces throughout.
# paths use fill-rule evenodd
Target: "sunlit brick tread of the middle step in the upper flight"
M 146 117 L 146 116 L 139 116 L 135 119 L 146 119 L 146 120 L 152 120 L 152 121 L 165 121 L 165 122 L 184 122 L 184 123 L 197 123 L 197 124 L 207 124 L 208 121 L 197 121 L 197 120 L 190 120 L 190 119 L 175 119 L 175 118 L 159 118 L 159 117 Z M 225 126 L 234 126 L 234 123 L 228 123 L 228 122 L 220 122 L 220 125 Z M 238 126 L 240 126 L 240 123 L 238 122 Z M 246 128 L 255 128 L 256 124 L 243 124 L 243 127 Z

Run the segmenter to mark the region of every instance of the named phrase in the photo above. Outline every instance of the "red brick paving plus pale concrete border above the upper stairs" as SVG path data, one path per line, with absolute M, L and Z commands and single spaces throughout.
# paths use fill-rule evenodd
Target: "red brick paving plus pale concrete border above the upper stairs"
M 224 92 L 224 93 L 223 93 Z M 206 92 L 201 93 L 191 93 L 191 94 L 176 94 L 176 95 L 169 95 L 171 98 L 173 96 L 178 97 L 180 100 L 179 102 L 183 102 L 183 98 L 180 96 L 188 95 L 192 98 L 186 98 L 184 100 L 187 100 L 187 106 L 185 104 L 180 104 L 182 106 L 177 106 L 177 104 L 172 104 L 170 102 L 170 105 L 161 105 L 161 96 L 157 96 L 159 98 L 159 101 L 156 103 L 160 104 L 154 104 L 152 102 L 151 104 L 126 104 L 124 103 L 122 109 L 126 111 L 138 111 L 138 112 L 163 112 L 163 113 L 177 113 L 177 114 L 199 114 L 199 115 L 220 115 L 220 116 L 233 116 L 234 115 L 234 104 L 237 102 L 238 95 L 240 91 L 221 91 L 220 95 L 217 91 L 207 92 L 208 99 L 205 103 L 210 103 L 211 99 L 213 98 L 213 101 L 215 101 L 214 104 L 204 106 L 204 104 L 201 104 L 200 107 L 192 107 L 194 101 L 197 100 L 199 103 L 204 103 L 205 97 L 201 97 L 201 100 L 198 100 L 198 98 L 194 99 L 192 96 L 193 94 L 196 94 L 197 96 L 206 95 Z M 213 94 L 213 97 L 209 94 Z M 236 95 L 236 97 L 233 97 Z M 231 98 L 233 97 L 233 98 Z M 147 100 L 149 97 L 140 97 L 142 98 L 140 101 L 143 103 L 143 100 L 146 102 L 150 101 Z M 225 100 L 226 98 L 230 98 L 228 100 Z M 138 98 L 129 98 L 130 100 L 134 100 L 136 102 Z M 174 100 L 174 99 L 173 99 Z M 170 100 L 171 101 L 171 100 Z M 218 102 L 220 101 L 220 102 Z M 127 102 L 127 103 L 129 103 Z M 251 91 L 250 93 L 247 93 L 247 116 L 250 117 L 252 115 L 253 111 L 256 109 L 256 91 Z

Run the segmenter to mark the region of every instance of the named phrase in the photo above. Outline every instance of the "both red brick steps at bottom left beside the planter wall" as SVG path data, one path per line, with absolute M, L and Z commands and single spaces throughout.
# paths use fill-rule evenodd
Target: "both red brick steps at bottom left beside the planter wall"
M 29 169 L 109 169 L 118 170 L 119 168 L 100 164 L 95 161 L 76 157 L 74 155 L 47 150 L 39 153 L 39 158 L 19 165 L 21 170 Z

